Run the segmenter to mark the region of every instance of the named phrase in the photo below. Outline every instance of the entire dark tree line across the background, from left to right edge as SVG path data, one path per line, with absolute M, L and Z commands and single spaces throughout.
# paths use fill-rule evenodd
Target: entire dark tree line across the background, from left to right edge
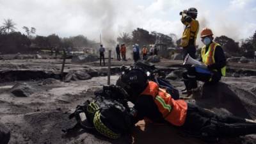
M 4 19 L 3 25 L 0 26 L 0 52 L 1 53 L 16 53 L 28 52 L 31 48 L 52 49 L 52 48 L 67 48 L 67 47 L 93 47 L 97 44 L 95 41 L 88 39 L 86 36 L 77 35 L 68 38 L 61 38 L 56 34 L 49 36 L 35 35 L 36 28 L 23 26 L 26 35 L 15 31 L 17 24 L 12 19 Z M 136 28 L 131 34 L 123 32 L 116 38 L 118 44 L 133 45 L 139 44 L 161 44 L 166 47 L 179 47 L 179 40 L 174 42 L 175 34 L 164 35 L 157 31 L 147 31 L 146 29 Z M 173 39 L 174 38 L 174 39 Z M 227 56 L 246 56 L 253 58 L 256 51 L 256 31 L 255 33 L 243 40 L 240 44 L 228 36 L 217 36 L 214 39 L 223 46 Z M 36 49 L 38 51 L 38 49 Z

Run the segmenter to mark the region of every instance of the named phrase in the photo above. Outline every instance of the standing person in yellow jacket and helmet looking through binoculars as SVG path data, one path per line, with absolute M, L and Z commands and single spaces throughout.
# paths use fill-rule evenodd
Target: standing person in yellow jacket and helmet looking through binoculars
M 189 8 L 180 12 L 180 15 L 182 15 L 181 22 L 185 25 L 180 41 L 180 47 L 183 47 L 183 58 L 187 54 L 196 58 L 196 36 L 199 29 L 199 22 L 196 20 L 197 10 L 196 8 Z

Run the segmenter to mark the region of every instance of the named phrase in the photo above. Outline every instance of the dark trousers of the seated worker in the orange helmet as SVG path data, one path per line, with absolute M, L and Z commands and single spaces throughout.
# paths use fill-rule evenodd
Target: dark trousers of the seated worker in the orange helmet
M 189 67 L 187 71 L 182 74 L 184 84 L 187 90 L 197 88 L 196 81 L 203 81 L 205 83 L 217 83 L 221 79 L 220 72 L 210 71 L 202 67 Z

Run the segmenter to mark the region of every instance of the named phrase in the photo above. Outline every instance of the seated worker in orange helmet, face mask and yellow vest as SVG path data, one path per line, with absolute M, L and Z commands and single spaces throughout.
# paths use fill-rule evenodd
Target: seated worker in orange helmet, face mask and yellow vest
M 200 33 L 202 42 L 205 44 L 201 50 L 201 58 L 203 65 L 192 65 L 188 67 L 187 72 L 182 74 L 186 88 L 182 91 L 184 94 L 191 95 L 197 89 L 198 81 L 205 83 L 216 83 L 220 81 L 221 76 L 226 75 L 226 58 L 220 44 L 213 41 L 211 29 L 204 28 Z

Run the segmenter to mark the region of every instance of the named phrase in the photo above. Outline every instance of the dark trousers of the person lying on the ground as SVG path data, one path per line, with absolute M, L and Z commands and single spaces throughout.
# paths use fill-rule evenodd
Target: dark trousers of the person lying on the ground
M 182 129 L 205 140 L 256 133 L 256 124 L 236 116 L 217 115 L 188 103 L 186 121 Z

